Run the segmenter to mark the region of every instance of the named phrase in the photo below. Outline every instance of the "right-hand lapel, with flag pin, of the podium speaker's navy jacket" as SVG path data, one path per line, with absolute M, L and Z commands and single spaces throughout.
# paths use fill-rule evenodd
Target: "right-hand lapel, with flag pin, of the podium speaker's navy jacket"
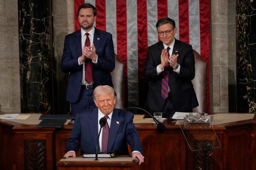
M 119 126 L 122 123 L 122 122 L 117 123 L 118 119 L 119 119 L 119 113 L 116 109 L 114 109 L 113 115 L 111 118 L 111 125 L 110 125 L 109 136 L 108 136 L 108 150 L 111 150 L 111 148 L 113 147 Z

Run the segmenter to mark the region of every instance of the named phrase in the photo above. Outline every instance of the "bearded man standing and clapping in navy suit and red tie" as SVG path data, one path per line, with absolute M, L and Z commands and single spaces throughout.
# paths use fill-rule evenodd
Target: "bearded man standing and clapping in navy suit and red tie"
M 66 99 L 76 114 L 96 108 L 93 89 L 98 85 L 113 87 L 110 72 L 115 67 L 112 35 L 93 26 L 96 8 L 90 3 L 78 9 L 79 31 L 65 37 L 61 69 L 69 73 Z

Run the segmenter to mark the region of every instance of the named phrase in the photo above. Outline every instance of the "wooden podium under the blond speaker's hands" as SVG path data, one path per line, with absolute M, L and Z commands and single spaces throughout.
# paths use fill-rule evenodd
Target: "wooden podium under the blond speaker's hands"
M 57 170 L 131 170 L 133 158 L 130 156 L 119 156 L 116 158 L 67 158 L 57 162 Z

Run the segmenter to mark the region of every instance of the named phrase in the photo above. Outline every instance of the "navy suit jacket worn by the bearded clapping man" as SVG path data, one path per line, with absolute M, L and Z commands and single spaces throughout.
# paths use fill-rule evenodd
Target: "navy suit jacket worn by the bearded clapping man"
M 95 28 L 93 43 L 98 55 L 97 64 L 92 63 L 94 86 L 110 85 L 113 87 L 110 72 L 115 68 L 114 46 L 112 35 Z M 70 73 L 67 84 L 66 99 L 76 102 L 79 98 L 82 82 L 83 65 L 78 64 L 78 58 L 82 55 L 81 30 L 68 34 L 65 37 L 61 69 L 64 73 Z

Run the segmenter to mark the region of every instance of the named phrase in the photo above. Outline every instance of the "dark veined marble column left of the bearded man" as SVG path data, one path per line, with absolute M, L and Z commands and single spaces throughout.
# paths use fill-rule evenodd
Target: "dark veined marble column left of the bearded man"
M 52 113 L 50 0 L 18 0 L 21 112 Z

